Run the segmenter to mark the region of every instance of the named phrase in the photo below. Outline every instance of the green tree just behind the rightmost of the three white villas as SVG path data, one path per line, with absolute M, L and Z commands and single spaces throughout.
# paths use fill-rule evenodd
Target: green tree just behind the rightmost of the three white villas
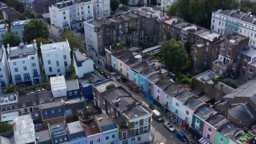
M 80 49 L 83 47 L 83 43 L 77 39 L 75 33 L 72 30 L 66 31 L 64 32 L 64 34 L 62 34 L 61 40 L 66 40 L 66 39 L 69 41 L 69 46 L 72 51 L 74 50 L 74 48 Z

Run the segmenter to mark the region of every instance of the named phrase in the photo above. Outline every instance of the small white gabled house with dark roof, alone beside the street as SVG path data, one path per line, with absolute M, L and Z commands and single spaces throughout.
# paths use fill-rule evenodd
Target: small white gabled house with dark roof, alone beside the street
M 94 71 L 93 60 L 85 56 L 85 54 L 81 53 L 78 49 L 73 51 L 73 64 L 78 78 Z

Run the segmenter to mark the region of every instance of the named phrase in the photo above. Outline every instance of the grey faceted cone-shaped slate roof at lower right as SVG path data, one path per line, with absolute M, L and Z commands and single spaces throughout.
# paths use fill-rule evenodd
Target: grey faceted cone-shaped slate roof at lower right
M 233 104 L 229 109 L 229 115 L 237 121 L 250 122 L 256 116 L 256 112 L 247 102 L 245 104 Z

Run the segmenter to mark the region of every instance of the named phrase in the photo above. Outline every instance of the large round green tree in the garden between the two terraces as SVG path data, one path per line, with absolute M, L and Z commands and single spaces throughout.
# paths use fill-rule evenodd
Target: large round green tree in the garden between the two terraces
M 188 54 L 180 42 L 168 40 L 163 42 L 161 58 L 170 71 L 180 71 L 188 60 Z

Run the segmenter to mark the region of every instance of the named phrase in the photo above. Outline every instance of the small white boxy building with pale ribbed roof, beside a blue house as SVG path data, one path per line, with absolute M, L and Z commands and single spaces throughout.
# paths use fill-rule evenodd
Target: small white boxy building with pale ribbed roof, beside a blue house
M 51 77 L 51 92 L 54 98 L 67 96 L 67 85 L 64 75 L 58 77 Z

